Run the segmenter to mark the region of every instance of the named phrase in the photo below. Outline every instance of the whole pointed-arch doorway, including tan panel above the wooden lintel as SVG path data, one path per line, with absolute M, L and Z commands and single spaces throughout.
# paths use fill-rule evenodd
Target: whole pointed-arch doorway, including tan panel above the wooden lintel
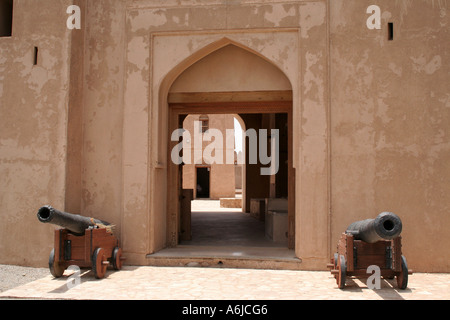
M 169 160 L 167 162 L 168 200 L 165 233 L 167 248 L 151 256 L 166 255 L 167 257 L 171 252 L 177 252 L 179 258 L 198 256 L 203 259 L 227 256 L 254 260 L 259 256 L 263 260 L 270 260 L 288 257 L 288 259 L 296 259 L 295 263 L 298 263 L 299 259 L 295 257 L 293 250 L 295 246 L 295 171 L 292 152 L 292 105 L 292 86 L 284 73 L 254 51 L 233 43 L 198 59 L 178 74 L 174 82 L 168 86 L 167 91 L 167 128 L 168 136 L 172 137 L 167 155 L 168 159 L 171 159 L 173 154 L 181 155 L 183 161 L 175 163 Z M 199 224 L 194 218 L 198 212 L 193 210 L 192 203 L 193 199 L 198 198 L 197 186 L 184 187 L 183 170 L 192 166 L 192 162 L 185 161 L 186 149 L 182 148 L 181 153 L 176 149 L 190 139 L 184 134 L 179 135 L 178 139 L 173 139 L 173 132 L 183 128 L 183 121 L 190 115 L 208 119 L 208 122 L 200 121 L 200 130 L 194 130 L 194 132 L 200 131 L 204 134 L 211 132 L 211 129 L 214 129 L 212 115 L 237 115 L 244 124 L 246 133 L 253 130 L 245 135 L 246 143 L 243 150 L 245 160 L 242 166 L 240 188 L 242 190 L 241 207 L 237 210 L 219 207 L 220 210 L 209 210 L 207 217 L 205 212 L 202 212 L 198 215 Z M 203 129 L 206 127 L 208 127 L 207 130 Z M 272 140 L 275 139 L 274 137 L 279 142 L 276 151 L 272 148 L 275 145 L 273 143 L 275 140 Z M 226 137 L 222 139 L 222 143 L 226 140 Z M 218 140 L 213 138 L 208 141 L 217 142 Z M 173 153 L 174 148 L 175 153 Z M 221 157 L 227 159 L 226 148 L 213 149 L 209 156 L 220 158 L 218 151 L 221 151 Z M 256 153 L 254 150 L 257 150 Z M 273 162 L 268 159 L 275 154 L 279 156 L 276 161 L 279 167 L 272 172 Z M 215 168 L 210 163 L 207 161 L 204 163 L 201 159 L 200 163 L 194 162 L 194 165 L 196 164 L 200 164 L 199 168 L 205 165 L 211 166 L 209 199 L 215 199 L 215 186 L 227 184 L 232 179 L 222 176 L 216 181 Z M 235 165 L 234 161 L 231 164 L 226 161 L 226 164 L 232 167 Z M 196 182 L 198 176 L 204 176 L 204 172 L 197 171 L 199 168 L 195 169 Z M 237 198 L 235 190 L 231 197 Z M 259 207 L 257 213 L 253 215 L 254 203 L 258 203 Z M 221 211 L 228 211 L 228 215 L 222 220 L 219 219 L 220 214 L 218 214 Z M 202 214 L 203 217 L 200 217 Z M 239 217 L 239 222 L 232 222 L 233 217 Z M 250 220 L 245 221 L 252 221 L 253 225 L 259 226 L 258 237 L 261 240 L 259 245 L 252 242 L 254 240 L 252 236 L 256 233 L 248 229 L 239 235 L 236 234 L 238 230 L 244 230 L 244 226 L 250 225 L 244 222 L 247 218 Z M 201 226 L 202 223 L 203 226 Z M 225 228 L 227 225 L 229 227 Z M 196 231 L 197 226 L 200 226 L 200 231 Z M 278 232 L 279 230 L 281 231 Z M 207 233 L 209 233 L 207 241 L 196 242 Z

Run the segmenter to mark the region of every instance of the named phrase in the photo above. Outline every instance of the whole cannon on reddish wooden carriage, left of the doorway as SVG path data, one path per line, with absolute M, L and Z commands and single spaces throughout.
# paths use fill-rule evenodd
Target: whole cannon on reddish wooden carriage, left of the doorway
M 38 210 L 38 220 L 61 227 L 54 233 L 54 248 L 49 256 L 50 273 L 59 278 L 69 266 L 92 268 L 101 279 L 108 266 L 122 268 L 122 249 L 114 236 L 114 226 L 108 222 L 71 214 L 44 206 Z

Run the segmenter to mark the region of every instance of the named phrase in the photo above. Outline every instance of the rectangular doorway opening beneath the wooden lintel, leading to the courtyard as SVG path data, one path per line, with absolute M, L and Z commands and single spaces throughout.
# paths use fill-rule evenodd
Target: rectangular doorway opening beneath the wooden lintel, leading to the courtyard
M 235 116 L 241 120 L 243 123 L 242 140 L 244 141 L 242 146 L 244 161 L 240 164 L 242 166 L 240 183 L 242 193 L 239 197 L 235 187 L 237 185 L 236 166 L 239 163 L 234 143 L 233 163 L 224 163 L 224 168 L 220 169 L 219 165 L 211 163 L 205 165 L 203 163 L 205 160 L 202 159 L 203 165 L 195 166 L 196 190 L 187 189 L 190 185 L 189 168 L 192 167 L 192 163 L 185 163 L 189 162 L 188 158 L 185 158 L 186 161 L 183 164 L 176 166 L 178 169 L 170 171 L 175 175 L 171 178 L 174 181 L 173 185 L 177 185 L 179 194 L 183 195 L 179 202 L 179 209 L 177 209 L 179 210 L 178 241 L 172 248 L 164 249 L 153 256 L 173 255 L 177 252 L 178 257 L 189 256 L 192 258 L 194 255 L 202 259 L 210 259 L 213 256 L 220 256 L 222 262 L 227 257 L 253 260 L 255 257 L 259 257 L 270 260 L 274 264 L 281 259 L 283 264 L 293 263 L 294 268 L 297 268 L 299 259 L 295 257 L 292 245 L 295 238 L 295 229 L 293 228 L 295 223 L 295 198 L 293 197 L 295 180 L 293 177 L 295 174 L 292 168 L 291 110 L 291 102 L 285 101 L 273 104 L 259 103 L 254 107 L 249 107 L 248 104 L 242 106 L 228 103 L 214 104 L 210 107 L 189 104 L 170 105 L 171 123 L 178 124 L 178 127 L 175 126 L 171 130 L 183 127 L 188 116 L 198 117 L 200 114 L 208 114 L 210 129 L 214 129 L 212 125 L 214 115 Z M 271 149 L 273 140 L 270 135 L 275 131 L 278 136 L 277 148 Z M 196 131 L 194 130 L 194 132 Z M 255 132 L 255 136 L 251 132 Z M 256 140 L 254 140 L 255 138 Z M 194 139 L 190 135 L 180 136 L 180 139 L 173 141 L 173 144 L 179 145 L 186 142 L 185 140 L 192 142 Z M 226 137 L 223 141 L 225 140 L 227 140 Z M 236 141 L 234 137 L 228 140 Z M 214 142 L 214 140 L 209 141 Z M 208 148 L 208 143 L 206 148 Z M 262 169 L 267 169 L 268 163 L 261 161 L 260 151 L 258 151 L 257 161 L 252 162 L 254 160 L 251 153 L 255 146 L 257 149 L 263 147 L 263 153 L 266 156 L 273 156 L 274 154 L 271 152 L 276 150 L 278 155 L 276 172 L 270 175 L 261 174 Z M 203 146 L 203 150 L 206 148 Z M 225 145 L 222 151 L 226 151 L 226 149 Z M 183 148 L 182 156 L 186 150 L 188 149 Z M 194 157 L 194 151 L 187 152 L 190 157 Z M 213 153 L 213 155 L 215 154 Z M 226 152 L 223 152 L 222 156 L 225 160 Z M 226 166 L 231 168 L 227 170 Z M 214 170 L 222 171 L 222 175 L 217 175 Z M 208 184 L 208 180 L 209 195 L 206 195 L 202 192 L 204 186 Z M 217 193 L 219 189 L 226 191 L 226 185 L 230 181 L 233 186 L 233 194 L 230 195 L 230 198 L 233 196 L 234 200 L 241 201 L 241 205 L 237 208 L 221 206 L 222 199 Z M 198 188 L 198 185 L 201 186 L 201 189 Z M 169 192 L 175 191 L 171 189 Z M 189 195 L 191 198 L 187 201 L 186 197 Z M 206 196 L 208 199 L 204 198 Z M 259 204 L 256 210 L 253 208 L 255 203 Z

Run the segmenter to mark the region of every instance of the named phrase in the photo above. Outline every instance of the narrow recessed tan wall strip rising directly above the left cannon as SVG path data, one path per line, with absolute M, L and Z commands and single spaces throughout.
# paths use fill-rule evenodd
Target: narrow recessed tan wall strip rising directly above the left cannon
M 85 3 L 80 211 L 116 225 L 120 234 L 125 2 Z

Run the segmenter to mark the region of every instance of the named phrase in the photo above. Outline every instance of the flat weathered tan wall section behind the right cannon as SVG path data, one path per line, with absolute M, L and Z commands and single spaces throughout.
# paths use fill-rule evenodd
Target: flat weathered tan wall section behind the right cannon
M 382 29 L 368 30 L 375 3 Z M 337 0 L 330 9 L 333 248 L 351 222 L 391 211 L 410 267 L 448 272 L 448 3 Z

